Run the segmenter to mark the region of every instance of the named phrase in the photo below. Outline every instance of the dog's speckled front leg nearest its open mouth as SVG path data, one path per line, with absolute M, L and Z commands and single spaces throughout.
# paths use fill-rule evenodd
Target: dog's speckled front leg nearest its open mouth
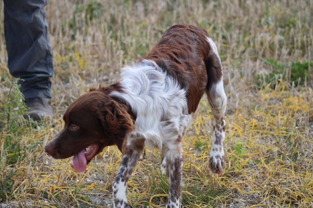
M 127 144 L 127 154 L 123 155 L 120 169 L 113 181 L 114 208 L 130 207 L 126 198 L 126 186 L 131 173 L 134 171 L 140 154 L 144 148 L 144 140 L 132 141 Z

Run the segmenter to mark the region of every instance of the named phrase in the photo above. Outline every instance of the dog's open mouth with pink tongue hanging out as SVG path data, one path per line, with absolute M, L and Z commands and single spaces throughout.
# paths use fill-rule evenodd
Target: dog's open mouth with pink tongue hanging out
M 71 163 L 72 168 L 77 172 L 84 172 L 87 164 L 98 153 L 99 145 L 91 144 L 82 149 L 78 154 L 74 155 Z

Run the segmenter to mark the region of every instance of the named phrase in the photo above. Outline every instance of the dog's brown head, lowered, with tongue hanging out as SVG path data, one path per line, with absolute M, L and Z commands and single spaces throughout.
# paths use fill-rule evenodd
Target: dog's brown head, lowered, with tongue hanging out
M 75 100 L 63 116 L 64 129 L 46 146 L 56 159 L 74 156 L 72 166 L 78 171 L 104 147 L 117 145 L 125 152 L 126 136 L 133 129 L 127 106 L 113 100 L 103 90 L 93 90 Z

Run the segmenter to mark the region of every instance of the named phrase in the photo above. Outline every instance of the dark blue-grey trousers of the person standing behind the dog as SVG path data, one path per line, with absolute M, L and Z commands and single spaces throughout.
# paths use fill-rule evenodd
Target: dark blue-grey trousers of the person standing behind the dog
M 52 52 L 44 6 L 47 0 L 3 0 L 8 67 L 24 81 L 25 98 L 51 97 Z

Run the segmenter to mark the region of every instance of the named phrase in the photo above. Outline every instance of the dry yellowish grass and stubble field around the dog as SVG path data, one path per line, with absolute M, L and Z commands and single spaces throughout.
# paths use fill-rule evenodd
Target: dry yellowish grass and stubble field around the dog
M 310 0 L 50 0 L 53 125 L 23 120 L 1 21 L 0 206 L 2 199 L 2 207 L 112 207 L 121 160 L 115 147 L 105 148 L 84 173 L 43 147 L 62 129 L 69 103 L 102 80 L 116 81 L 118 69 L 144 57 L 168 27 L 186 23 L 216 41 L 228 127 L 227 166 L 217 177 L 208 170 L 213 117 L 203 98 L 184 138 L 184 207 L 313 207 L 312 11 Z M 128 182 L 132 207 L 165 206 L 159 163 L 159 151 L 146 150 Z

